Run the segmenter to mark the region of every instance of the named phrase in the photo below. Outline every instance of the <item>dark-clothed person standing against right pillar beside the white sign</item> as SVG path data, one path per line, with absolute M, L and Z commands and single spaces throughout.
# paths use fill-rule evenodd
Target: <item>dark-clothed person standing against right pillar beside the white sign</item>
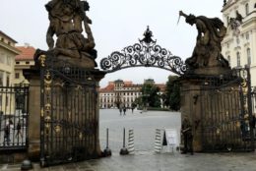
M 181 153 L 190 152 L 191 155 L 193 155 L 194 150 L 193 150 L 192 126 L 186 115 L 182 121 L 181 134 L 183 135 L 183 142 L 184 142 L 184 148 Z

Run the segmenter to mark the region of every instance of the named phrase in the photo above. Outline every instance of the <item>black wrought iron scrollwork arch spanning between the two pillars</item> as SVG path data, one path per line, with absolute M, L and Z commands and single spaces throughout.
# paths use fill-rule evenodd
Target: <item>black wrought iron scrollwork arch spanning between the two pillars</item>
M 100 61 L 100 67 L 106 73 L 130 67 L 157 67 L 171 71 L 177 75 L 186 72 L 187 67 L 182 59 L 156 44 L 152 39 L 150 28 L 144 33 L 140 43 L 125 47 L 121 52 L 115 51 Z

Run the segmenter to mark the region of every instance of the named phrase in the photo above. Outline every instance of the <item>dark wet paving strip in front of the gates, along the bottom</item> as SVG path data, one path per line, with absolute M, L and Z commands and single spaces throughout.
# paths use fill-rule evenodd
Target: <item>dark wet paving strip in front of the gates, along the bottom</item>
M 2 171 L 18 171 L 21 164 L 0 164 Z M 98 160 L 40 168 L 44 171 L 255 171 L 256 153 L 195 153 L 179 154 L 137 151 L 135 155 L 114 153 Z

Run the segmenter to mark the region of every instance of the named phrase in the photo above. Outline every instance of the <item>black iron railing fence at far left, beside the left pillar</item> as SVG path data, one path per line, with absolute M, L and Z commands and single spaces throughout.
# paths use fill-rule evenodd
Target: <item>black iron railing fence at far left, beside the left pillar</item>
M 26 149 L 29 85 L 0 86 L 0 150 Z

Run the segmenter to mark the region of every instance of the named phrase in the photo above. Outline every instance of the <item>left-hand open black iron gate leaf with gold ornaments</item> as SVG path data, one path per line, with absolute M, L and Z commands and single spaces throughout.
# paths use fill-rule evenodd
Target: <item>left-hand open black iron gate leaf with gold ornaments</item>
M 54 57 L 41 65 L 41 165 L 92 158 L 96 151 L 96 82 L 90 71 Z

